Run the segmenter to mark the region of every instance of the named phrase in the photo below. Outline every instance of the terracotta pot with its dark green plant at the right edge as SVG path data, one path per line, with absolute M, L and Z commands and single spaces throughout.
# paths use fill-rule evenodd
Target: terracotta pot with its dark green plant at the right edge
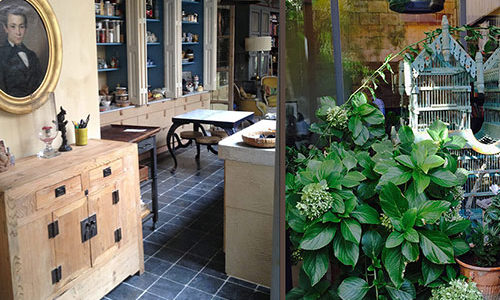
M 497 187 L 498 189 L 498 187 Z M 471 227 L 470 253 L 457 258 L 460 273 L 477 284 L 486 300 L 500 297 L 500 195 L 492 198 L 484 221 Z

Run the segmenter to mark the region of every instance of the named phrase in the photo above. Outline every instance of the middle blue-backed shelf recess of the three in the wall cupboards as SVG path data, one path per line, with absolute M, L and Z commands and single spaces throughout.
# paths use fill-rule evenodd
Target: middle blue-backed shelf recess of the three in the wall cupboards
M 146 19 L 147 31 L 151 31 L 156 35 L 158 41 L 155 43 L 147 43 L 147 58 L 153 60 L 154 65 L 148 65 L 148 85 L 151 90 L 163 88 L 165 86 L 165 71 L 164 71 L 164 18 L 163 18 L 163 0 L 154 2 L 154 19 Z

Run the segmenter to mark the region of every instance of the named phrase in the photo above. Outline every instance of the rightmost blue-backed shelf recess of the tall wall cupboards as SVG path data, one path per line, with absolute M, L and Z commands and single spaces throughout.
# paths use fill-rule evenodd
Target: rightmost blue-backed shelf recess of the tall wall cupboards
M 197 43 L 182 43 L 182 50 L 193 50 L 194 61 L 182 63 L 182 71 L 190 71 L 192 76 L 198 75 L 203 84 L 203 0 L 182 0 L 182 10 L 186 14 L 198 14 L 198 22 L 182 22 L 182 32 L 198 34 Z

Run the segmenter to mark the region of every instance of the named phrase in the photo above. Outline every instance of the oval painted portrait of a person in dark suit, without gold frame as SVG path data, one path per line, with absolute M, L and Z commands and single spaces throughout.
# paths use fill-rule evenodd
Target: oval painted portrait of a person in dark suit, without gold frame
M 49 63 L 49 41 L 42 18 L 24 0 L 0 2 L 0 89 L 26 97 L 39 87 Z

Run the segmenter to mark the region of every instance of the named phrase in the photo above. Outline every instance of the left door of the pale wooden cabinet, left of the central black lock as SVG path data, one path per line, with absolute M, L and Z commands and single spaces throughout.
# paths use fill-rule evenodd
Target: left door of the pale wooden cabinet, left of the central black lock
M 82 242 L 80 222 L 88 217 L 87 198 L 75 200 L 53 213 L 59 224 L 59 234 L 54 238 L 56 267 L 61 266 L 61 280 L 57 286 L 78 277 L 90 268 L 89 241 Z

